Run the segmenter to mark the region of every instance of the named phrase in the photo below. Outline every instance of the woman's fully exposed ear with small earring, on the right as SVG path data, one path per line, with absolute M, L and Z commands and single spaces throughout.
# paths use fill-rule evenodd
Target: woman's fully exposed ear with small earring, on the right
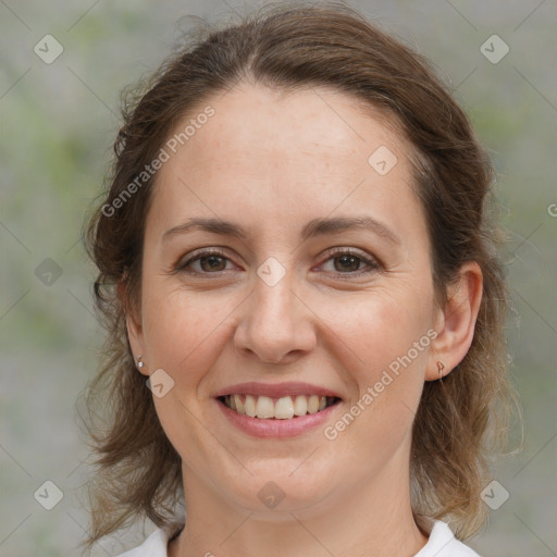
M 460 268 L 456 283 L 448 287 L 445 307 L 437 310 L 437 336 L 429 352 L 425 381 L 447 375 L 467 355 L 474 336 L 482 294 L 482 270 L 475 261 L 469 261 Z M 442 363 L 441 373 L 437 362 Z

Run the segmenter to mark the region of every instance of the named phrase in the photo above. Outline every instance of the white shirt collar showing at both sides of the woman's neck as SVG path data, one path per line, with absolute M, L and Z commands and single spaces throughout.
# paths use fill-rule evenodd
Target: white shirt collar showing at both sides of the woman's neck
M 119 557 L 168 557 L 166 546 L 171 532 L 160 529 L 153 532 L 139 547 Z M 433 522 L 428 543 L 414 557 L 480 557 L 475 552 L 459 542 L 450 528 L 441 520 Z

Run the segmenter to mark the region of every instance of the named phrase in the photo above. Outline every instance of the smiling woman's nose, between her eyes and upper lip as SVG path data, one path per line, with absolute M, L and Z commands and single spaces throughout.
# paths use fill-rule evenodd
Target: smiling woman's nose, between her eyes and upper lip
M 251 296 L 240 307 L 234 334 L 237 352 L 265 363 L 286 363 L 315 346 L 315 317 L 293 283 L 288 273 L 273 286 L 256 277 Z

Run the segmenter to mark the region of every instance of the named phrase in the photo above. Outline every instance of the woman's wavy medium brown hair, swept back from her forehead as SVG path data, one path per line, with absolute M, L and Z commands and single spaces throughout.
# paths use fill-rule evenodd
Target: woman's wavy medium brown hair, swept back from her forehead
M 243 78 L 283 90 L 333 87 L 385 114 L 413 149 L 413 187 L 428 221 L 438 299 L 445 300 L 462 263 L 481 267 L 483 298 L 472 345 L 448 376 L 425 383 L 410 462 L 416 516 L 450 520 L 458 537 L 469 537 L 485 521 L 480 493 L 490 481 L 488 456 L 503 447 L 512 396 L 503 335 L 507 288 L 488 210 L 492 166 L 465 112 L 420 54 L 344 4 L 298 2 L 207 28 L 166 60 L 145 84 L 146 92 L 126 99 L 110 187 L 87 236 L 99 269 L 96 305 L 108 329 L 106 361 L 87 399 L 90 416 L 104 407 L 103 421 L 90 423 L 99 468 L 90 487 L 89 546 L 141 517 L 168 525 L 182 494 L 181 458 L 137 372 L 125 327 L 125 304 L 136 304 L 140 290 L 157 176 L 125 202 L 114 200 L 157 157 L 178 121 Z M 107 207 L 115 206 L 109 214 Z

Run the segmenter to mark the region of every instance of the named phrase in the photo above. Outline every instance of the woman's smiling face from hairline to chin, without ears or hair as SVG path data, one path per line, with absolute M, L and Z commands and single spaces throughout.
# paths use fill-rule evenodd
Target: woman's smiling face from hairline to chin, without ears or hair
M 131 325 L 186 506 L 388 500 L 408 487 L 412 419 L 436 376 L 408 146 L 329 89 L 243 85 L 176 133 L 191 119 L 164 147 Z

